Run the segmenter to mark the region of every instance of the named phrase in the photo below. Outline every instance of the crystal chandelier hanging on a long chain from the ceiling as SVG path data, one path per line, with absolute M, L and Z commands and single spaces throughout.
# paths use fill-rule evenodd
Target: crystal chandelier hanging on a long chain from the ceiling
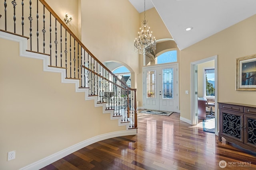
M 138 36 L 134 40 L 134 51 L 139 54 L 151 53 L 156 50 L 156 39 L 150 31 L 148 26 L 148 21 L 146 21 L 146 0 L 144 0 L 144 20 L 141 22 L 140 31 L 138 31 Z

